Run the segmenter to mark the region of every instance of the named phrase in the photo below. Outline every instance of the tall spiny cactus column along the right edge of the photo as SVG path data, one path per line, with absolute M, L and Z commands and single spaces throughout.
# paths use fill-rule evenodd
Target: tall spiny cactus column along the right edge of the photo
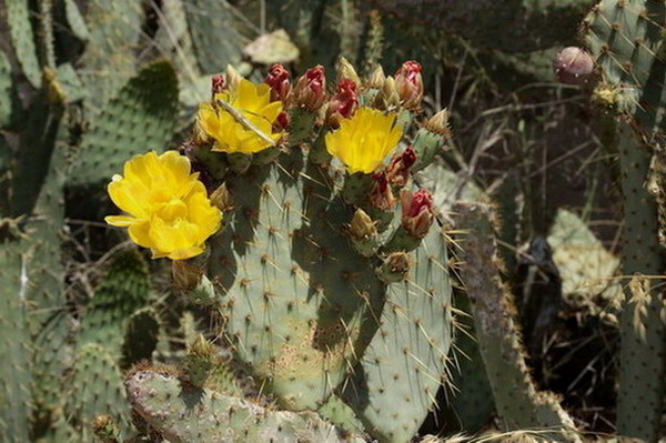
M 583 32 L 602 79 L 593 98 L 615 110 L 625 197 L 617 431 L 655 442 L 666 391 L 664 291 L 649 278 L 664 273 L 664 98 L 666 6 L 653 0 L 603 0 Z M 628 124 L 627 124 L 628 123 Z M 634 134 L 632 134 L 632 132 Z M 634 284 L 632 284 L 634 283 Z

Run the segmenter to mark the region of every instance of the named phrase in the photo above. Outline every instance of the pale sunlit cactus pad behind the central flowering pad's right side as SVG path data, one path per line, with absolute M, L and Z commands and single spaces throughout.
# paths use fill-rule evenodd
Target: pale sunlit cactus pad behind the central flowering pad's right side
M 389 285 L 382 325 L 343 397 L 381 442 L 408 441 L 434 407 L 452 338 L 446 242 L 431 229 L 407 279 Z

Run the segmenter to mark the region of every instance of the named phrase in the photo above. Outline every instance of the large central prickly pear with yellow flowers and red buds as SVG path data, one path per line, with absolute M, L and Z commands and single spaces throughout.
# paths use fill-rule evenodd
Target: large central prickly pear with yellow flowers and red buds
M 293 85 L 281 66 L 271 68 L 266 84 L 230 69 L 213 77 L 213 99 L 201 103 L 184 155 L 135 157 L 109 187 L 130 217 L 108 221 L 130 226 L 153 256 L 174 260 L 174 282 L 191 301 L 221 314 L 222 336 L 262 393 L 299 416 L 321 409 L 347 431 L 382 442 L 415 435 L 445 381 L 452 338 L 445 236 L 434 223 L 431 193 L 412 179 L 446 142 L 447 114 L 411 130 L 423 97 L 420 71 L 406 62 L 379 88 L 343 60 L 329 95 L 322 67 Z M 190 184 L 171 181 L 185 180 L 190 164 L 199 171 Z M 210 203 L 194 203 L 202 182 Z M 179 189 L 192 191 L 179 197 Z M 178 220 L 193 224 L 192 236 L 155 221 L 176 213 L 160 209 L 169 192 L 173 211 L 191 208 L 190 219 Z M 145 219 L 144 211 L 157 212 Z M 202 407 L 222 411 L 213 415 L 219 422 L 233 404 L 251 409 L 205 391 L 215 359 L 196 343 L 181 379 L 204 390 Z M 164 436 L 186 440 L 188 427 L 178 431 L 184 424 L 174 422 L 183 405 L 173 395 L 142 394 L 174 381 L 139 374 L 128 381 L 135 410 Z M 147 391 L 145 383 L 154 387 Z M 155 416 L 164 407 L 175 409 Z M 229 426 L 234 435 L 262 434 L 256 423 L 243 430 L 232 420 Z M 310 432 L 307 422 L 293 426 Z M 221 429 L 208 432 L 213 439 Z

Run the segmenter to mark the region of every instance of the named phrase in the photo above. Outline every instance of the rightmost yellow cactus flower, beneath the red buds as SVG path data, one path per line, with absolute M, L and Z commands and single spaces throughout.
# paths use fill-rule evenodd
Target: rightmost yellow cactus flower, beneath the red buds
M 340 129 L 325 137 L 326 150 L 340 159 L 350 173 L 374 172 L 402 138 L 395 113 L 360 108 L 351 119 L 341 119 Z

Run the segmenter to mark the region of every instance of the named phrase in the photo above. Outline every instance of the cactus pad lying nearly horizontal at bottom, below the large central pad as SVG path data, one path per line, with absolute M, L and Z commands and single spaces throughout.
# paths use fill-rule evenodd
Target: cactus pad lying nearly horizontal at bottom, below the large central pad
M 342 436 L 312 412 L 265 409 L 242 397 L 182 384 L 167 373 L 134 372 L 125 387 L 134 411 L 173 443 L 363 442 Z

